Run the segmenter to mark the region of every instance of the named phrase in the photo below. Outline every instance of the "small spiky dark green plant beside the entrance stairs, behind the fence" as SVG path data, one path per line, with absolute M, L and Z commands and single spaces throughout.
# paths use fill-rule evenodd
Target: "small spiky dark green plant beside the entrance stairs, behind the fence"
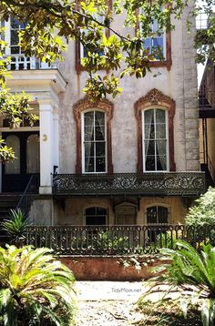
M 2 229 L 6 231 L 11 239 L 11 243 L 25 241 L 26 228 L 30 225 L 26 214 L 21 209 L 10 209 L 10 218 L 4 219 L 2 222 Z

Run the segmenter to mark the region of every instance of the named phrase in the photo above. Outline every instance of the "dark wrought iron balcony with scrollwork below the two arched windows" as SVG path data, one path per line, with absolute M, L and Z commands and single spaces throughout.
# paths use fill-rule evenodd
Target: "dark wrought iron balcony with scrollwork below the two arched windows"
M 67 196 L 199 196 L 203 172 L 56 174 L 53 193 Z

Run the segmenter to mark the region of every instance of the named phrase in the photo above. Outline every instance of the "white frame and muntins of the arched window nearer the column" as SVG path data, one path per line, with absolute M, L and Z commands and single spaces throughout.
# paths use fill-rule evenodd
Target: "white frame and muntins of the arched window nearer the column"
M 95 117 L 95 112 L 102 112 L 104 113 L 104 116 L 105 116 L 105 163 L 106 163 L 106 170 L 105 171 L 95 171 L 96 170 L 96 156 L 95 156 L 95 152 L 94 152 L 94 172 L 87 172 L 85 170 L 85 113 L 87 112 L 94 112 L 94 117 Z M 94 119 L 94 122 L 95 122 L 95 119 Z M 95 125 L 94 125 L 94 128 L 95 128 Z M 95 133 L 94 133 L 94 137 L 95 137 Z M 81 114 L 81 153 L 82 153 L 82 173 L 85 173 L 85 174 L 104 174 L 104 173 L 107 173 L 107 114 L 104 110 L 101 110 L 97 107 L 95 108 L 90 108 L 88 110 L 85 110 L 82 112 Z

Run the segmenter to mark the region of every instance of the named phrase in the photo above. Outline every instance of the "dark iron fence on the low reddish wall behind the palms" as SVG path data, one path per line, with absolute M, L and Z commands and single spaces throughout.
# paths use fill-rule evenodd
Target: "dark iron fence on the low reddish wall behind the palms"
M 186 239 L 200 248 L 202 241 L 215 244 L 215 226 L 184 225 L 127 226 L 31 226 L 26 243 L 47 247 L 58 255 L 142 255 L 174 248 L 176 239 Z

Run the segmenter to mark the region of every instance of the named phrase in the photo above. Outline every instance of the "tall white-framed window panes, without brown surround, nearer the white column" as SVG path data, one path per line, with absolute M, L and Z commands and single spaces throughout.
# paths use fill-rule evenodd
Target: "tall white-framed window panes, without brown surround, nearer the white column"
M 82 171 L 107 171 L 106 114 L 87 111 L 82 116 Z

